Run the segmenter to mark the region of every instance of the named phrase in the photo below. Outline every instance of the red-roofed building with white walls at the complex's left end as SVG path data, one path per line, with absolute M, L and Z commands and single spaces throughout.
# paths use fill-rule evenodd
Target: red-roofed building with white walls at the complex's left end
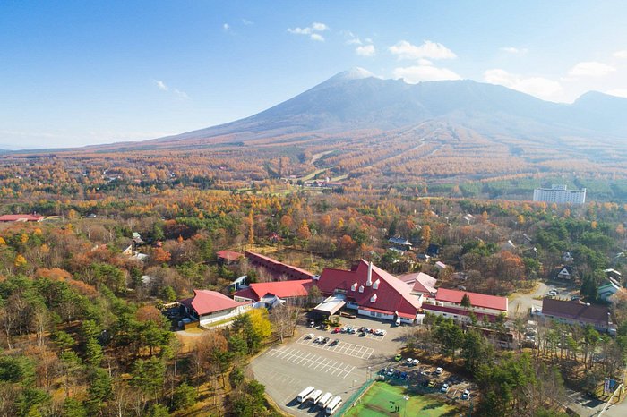
M 193 297 L 181 301 L 185 312 L 200 325 L 229 319 L 249 310 L 252 302 L 236 302 L 224 294 L 210 290 L 193 290 Z

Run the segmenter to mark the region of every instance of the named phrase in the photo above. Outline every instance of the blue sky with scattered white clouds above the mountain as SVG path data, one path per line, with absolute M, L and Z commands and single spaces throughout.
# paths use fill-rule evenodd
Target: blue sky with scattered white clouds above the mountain
M 571 102 L 627 97 L 624 1 L 0 3 L 0 148 L 227 123 L 360 66 Z

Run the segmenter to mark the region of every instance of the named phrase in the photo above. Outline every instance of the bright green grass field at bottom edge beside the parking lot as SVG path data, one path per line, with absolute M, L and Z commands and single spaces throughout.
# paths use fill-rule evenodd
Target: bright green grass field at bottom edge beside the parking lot
M 391 386 L 385 382 L 375 382 L 359 404 L 348 410 L 345 416 L 352 417 L 375 417 L 381 415 L 400 417 L 439 417 L 458 415 L 459 411 L 452 405 L 444 404 L 430 396 L 409 396 L 406 401 L 403 399 L 405 387 Z M 399 411 L 396 412 L 395 405 Z M 407 410 L 405 406 L 407 405 Z

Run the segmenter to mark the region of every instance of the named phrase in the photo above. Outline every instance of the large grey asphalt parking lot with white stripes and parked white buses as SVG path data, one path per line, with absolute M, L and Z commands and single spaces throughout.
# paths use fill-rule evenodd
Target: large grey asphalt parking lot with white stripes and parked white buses
M 371 319 L 341 318 L 343 326 L 382 328 L 386 335 L 359 336 L 318 328 L 298 326 L 294 337 L 283 345 L 272 347 L 251 363 L 254 378 L 287 413 L 299 416 L 323 415 L 318 407 L 298 404 L 296 396 L 305 387 L 315 387 L 344 401 L 399 352 L 405 340 L 406 327 Z M 313 338 L 305 338 L 308 334 Z M 325 344 L 315 338 L 329 337 Z M 331 345 L 338 339 L 337 345 Z M 369 370 L 370 368 L 370 370 Z M 372 374 L 371 374 L 372 372 Z

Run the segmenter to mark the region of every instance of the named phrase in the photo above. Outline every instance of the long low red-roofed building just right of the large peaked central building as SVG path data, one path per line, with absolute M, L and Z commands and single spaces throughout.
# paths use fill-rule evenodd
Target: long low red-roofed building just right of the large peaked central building
M 470 299 L 470 308 L 461 305 L 461 299 L 465 294 Z M 483 319 L 486 316 L 487 319 L 494 320 L 502 313 L 507 314 L 507 308 L 507 297 L 446 288 L 438 288 L 435 298 L 423 304 L 425 311 L 459 321 L 470 321 L 470 312 L 475 314 L 477 319 Z

